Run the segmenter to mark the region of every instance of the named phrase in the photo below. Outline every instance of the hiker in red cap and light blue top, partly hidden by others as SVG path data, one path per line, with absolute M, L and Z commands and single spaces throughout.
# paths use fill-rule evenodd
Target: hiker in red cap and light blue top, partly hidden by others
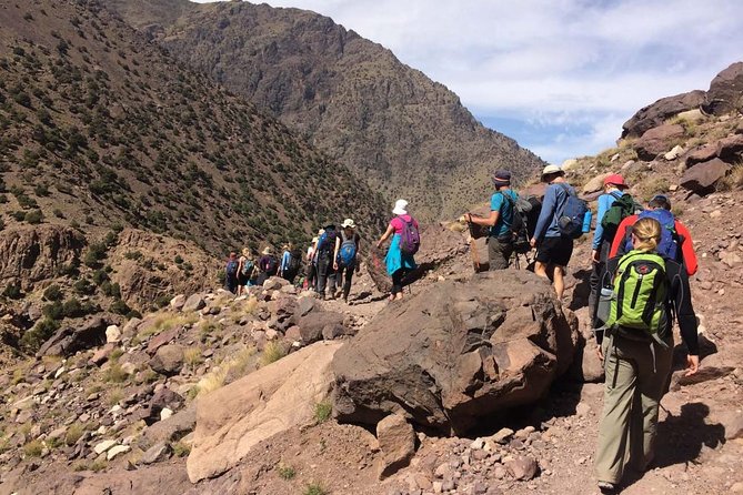
M 595 321 L 596 294 L 603 272 L 605 270 L 609 252 L 611 251 L 612 240 L 616 232 L 614 229 L 604 229 L 602 221 L 606 212 L 612 209 L 615 201 L 624 195 L 629 186 L 624 178 L 618 173 L 608 175 L 604 179 L 603 194 L 598 200 L 596 229 L 593 232 L 593 243 L 591 245 L 591 292 L 589 294 L 589 319 L 593 322 L 593 329 L 603 325 L 604 322 Z M 621 220 L 621 219 L 619 219 Z

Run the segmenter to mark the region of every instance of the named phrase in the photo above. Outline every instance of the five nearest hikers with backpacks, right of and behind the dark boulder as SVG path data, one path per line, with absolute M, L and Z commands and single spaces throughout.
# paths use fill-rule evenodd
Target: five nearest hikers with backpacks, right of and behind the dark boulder
M 510 172 L 496 171 L 492 181 L 490 215 L 465 215 L 490 228 L 490 270 L 505 269 L 514 253 L 518 259 L 535 248 L 534 273 L 549 277 L 562 300 L 574 240 L 591 229 L 588 204 L 555 165 L 542 172 L 548 185 L 538 216 L 534 203 L 511 188 Z M 644 208 L 627 190 L 620 174 L 604 179 L 591 251 L 589 313 L 605 371 L 595 456 L 603 493 L 616 491 L 627 466 L 643 473 L 652 465 L 660 401 L 671 377 L 674 321 L 686 346 L 685 374 L 696 373 L 700 363 L 689 284 L 697 267 L 691 234 L 674 219 L 666 195 L 653 196 Z

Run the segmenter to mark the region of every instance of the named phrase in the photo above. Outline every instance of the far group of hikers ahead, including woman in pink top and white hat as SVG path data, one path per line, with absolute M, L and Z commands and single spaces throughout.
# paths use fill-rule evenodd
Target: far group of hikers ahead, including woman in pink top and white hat
M 408 201 L 398 200 L 392 209 L 394 218 L 376 242 L 376 248 L 391 239 L 385 256 L 385 269 L 392 279 L 390 300 L 403 297 L 402 284 L 405 274 L 413 271 L 413 255 L 420 246 L 419 224 L 408 213 Z M 271 246 L 267 246 L 255 260 L 249 248 L 238 257 L 231 252 L 224 267 L 224 286 L 242 295 L 251 285 L 263 285 L 271 276 L 281 276 L 290 283 L 312 290 L 320 299 L 343 297 L 349 304 L 353 274 L 359 273 L 361 235 L 353 219 L 345 219 L 340 229 L 334 222 L 325 222 L 312 239 L 307 252 L 295 250 L 291 243 L 283 246 L 281 259 L 277 259 Z M 300 273 L 305 266 L 303 275 Z

